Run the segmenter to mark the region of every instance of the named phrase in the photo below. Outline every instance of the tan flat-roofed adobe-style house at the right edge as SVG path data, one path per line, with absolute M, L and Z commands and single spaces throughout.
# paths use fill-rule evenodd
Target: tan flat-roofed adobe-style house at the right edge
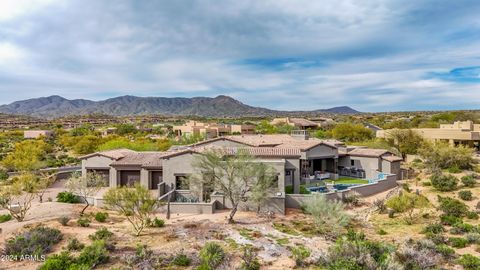
M 480 150 L 480 125 L 472 121 L 443 124 L 440 128 L 412 129 L 425 139 L 434 142 L 447 142 L 450 145 L 466 145 Z M 377 131 L 377 137 L 388 138 L 392 129 Z

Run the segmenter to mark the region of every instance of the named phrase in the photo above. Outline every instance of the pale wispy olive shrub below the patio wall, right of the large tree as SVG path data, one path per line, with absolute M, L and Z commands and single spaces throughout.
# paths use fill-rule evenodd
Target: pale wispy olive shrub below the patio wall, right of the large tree
M 313 216 L 317 229 L 322 233 L 337 234 L 350 222 L 344 205 L 339 201 L 329 201 L 323 195 L 314 195 L 307 201 L 305 211 Z

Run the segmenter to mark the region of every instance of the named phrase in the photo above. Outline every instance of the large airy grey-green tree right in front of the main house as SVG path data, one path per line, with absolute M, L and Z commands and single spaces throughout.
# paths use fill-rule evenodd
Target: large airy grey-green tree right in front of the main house
M 271 186 L 275 179 L 273 168 L 258 162 L 246 149 L 239 149 L 235 155 L 212 149 L 196 156 L 192 166 L 199 172 L 191 177 L 192 186 L 213 186 L 230 201 L 229 223 L 234 222 L 240 202 L 247 202 L 252 192 L 265 183 Z

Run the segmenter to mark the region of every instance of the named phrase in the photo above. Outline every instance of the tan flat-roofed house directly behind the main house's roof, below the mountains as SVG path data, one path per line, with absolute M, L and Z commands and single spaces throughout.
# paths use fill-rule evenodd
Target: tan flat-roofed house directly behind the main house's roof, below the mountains
M 188 121 L 184 125 L 174 126 L 173 132 L 178 137 L 205 135 L 207 139 L 226 136 L 231 134 L 254 134 L 254 125 L 231 125 L 202 123 L 197 121 Z

